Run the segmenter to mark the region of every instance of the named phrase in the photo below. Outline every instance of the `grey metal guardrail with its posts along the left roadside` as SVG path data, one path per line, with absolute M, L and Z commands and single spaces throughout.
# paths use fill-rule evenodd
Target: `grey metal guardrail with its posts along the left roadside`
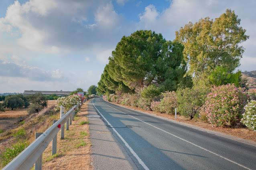
M 57 151 L 57 134 L 61 130 L 61 139 L 64 139 L 65 123 L 66 129 L 69 130 L 69 125 L 74 120 L 75 105 L 65 114 L 65 107 L 61 106 L 61 118 L 53 120 L 53 125 L 43 133 L 36 132 L 36 140 L 32 142 L 26 149 L 24 149 L 18 156 L 16 156 L 9 164 L 2 170 L 29 170 L 35 164 L 35 170 L 42 169 L 43 152 L 53 141 L 52 155 Z

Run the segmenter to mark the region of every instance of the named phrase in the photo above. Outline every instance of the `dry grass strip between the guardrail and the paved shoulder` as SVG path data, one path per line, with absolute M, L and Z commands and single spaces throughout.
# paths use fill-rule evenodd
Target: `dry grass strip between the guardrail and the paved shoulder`
M 91 170 L 91 142 L 89 139 L 89 125 L 79 125 L 82 121 L 88 121 L 87 105 L 82 106 L 81 113 L 78 113 L 69 131 L 65 130 L 65 139 L 60 139 L 60 132 L 57 137 L 57 157 L 51 156 L 50 143 L 43 153 L 44 170 Z M 47 160 L 48 159 L 48 160 Z

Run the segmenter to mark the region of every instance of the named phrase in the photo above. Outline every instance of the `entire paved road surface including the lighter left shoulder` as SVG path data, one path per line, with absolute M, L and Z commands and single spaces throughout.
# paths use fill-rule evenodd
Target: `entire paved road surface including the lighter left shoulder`
M 89 102 L 95 170 L 256 170 L 256 142 L 135 111 Z

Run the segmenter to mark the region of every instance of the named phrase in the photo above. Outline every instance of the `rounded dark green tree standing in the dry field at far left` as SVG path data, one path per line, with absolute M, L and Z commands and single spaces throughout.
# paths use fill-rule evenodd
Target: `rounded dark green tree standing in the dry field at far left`
M 24 100 L 17 95 L 8 95 L 4 99 L 4 106 L 10 109 L 16 109 L 24 106 Z

